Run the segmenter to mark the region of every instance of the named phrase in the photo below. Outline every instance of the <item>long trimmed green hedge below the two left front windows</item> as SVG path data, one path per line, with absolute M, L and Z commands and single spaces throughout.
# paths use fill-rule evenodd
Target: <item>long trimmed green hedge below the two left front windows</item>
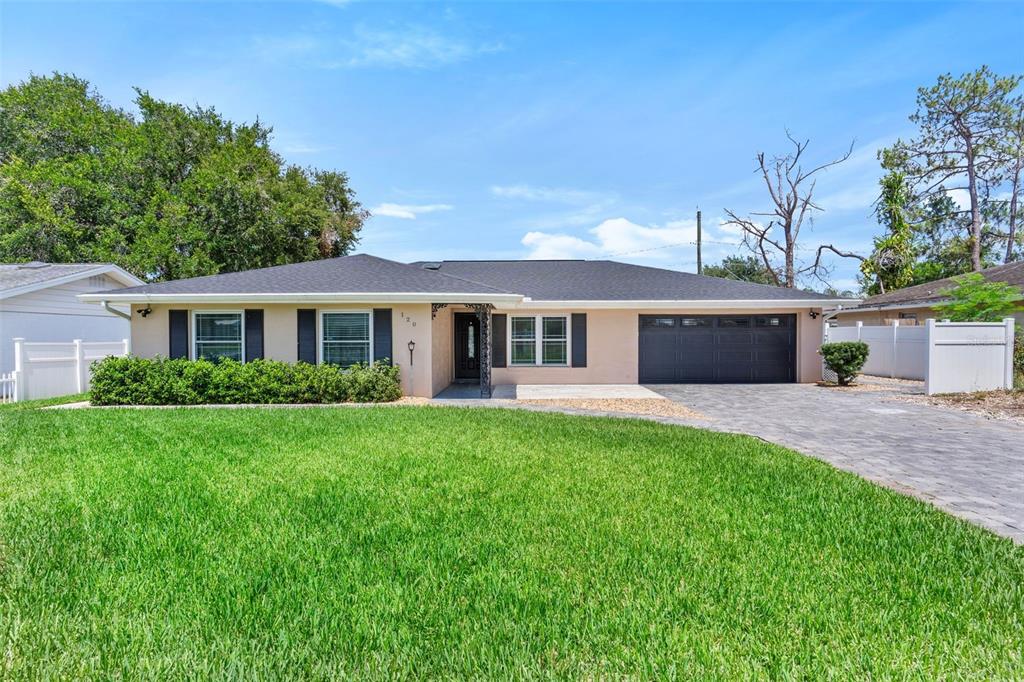
M 92 364 L 93 404 L 390 402 L 401 397 L 398 368 L 341 369 L 257 359 L 106 357 Z

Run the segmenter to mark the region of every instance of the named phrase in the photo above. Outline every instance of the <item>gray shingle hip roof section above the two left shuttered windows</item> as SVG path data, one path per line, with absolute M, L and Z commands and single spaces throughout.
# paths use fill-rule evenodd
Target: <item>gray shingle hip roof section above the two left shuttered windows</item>
M 256 270 L 119 289 L 117 294 L 507 294 L 494 287 L 445 276 L 369 255 L 342 256 Z

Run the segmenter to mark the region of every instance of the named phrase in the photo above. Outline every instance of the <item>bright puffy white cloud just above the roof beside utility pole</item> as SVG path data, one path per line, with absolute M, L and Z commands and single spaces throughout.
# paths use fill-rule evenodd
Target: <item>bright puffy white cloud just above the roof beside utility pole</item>
M 711 221 L 709 221 L 711 222 Z M 627 218 L 604 220 L 589 238 L 564 232 L 529 231 L 522 245 L 531 259 L 621 258 L 634 262 L 686 265 L 695 259 L 696 220 L 673 220 L 664 225 L 640 225 Z M 703 230 L 705 258 L 712 262 L 734 253 L 739 239 L 724 229 L 721 220 Z

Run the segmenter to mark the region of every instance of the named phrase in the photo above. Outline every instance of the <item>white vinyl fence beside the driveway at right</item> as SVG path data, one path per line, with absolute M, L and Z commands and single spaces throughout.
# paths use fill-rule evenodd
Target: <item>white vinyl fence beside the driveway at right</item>
M 870 351 L 863 373 L 918 379 L 925 392 L 962 393 L 1013 388 L 1014 321 L 950 323 L 920 327 L 830 327 L 825 341 L 863 341 Z

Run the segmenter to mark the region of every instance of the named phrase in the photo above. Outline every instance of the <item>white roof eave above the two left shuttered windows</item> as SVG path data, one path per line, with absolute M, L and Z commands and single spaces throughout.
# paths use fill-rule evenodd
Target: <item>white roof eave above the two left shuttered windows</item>
M 252 294 L 79 294 L 89 303 L 493 303 L 522 300 L 519 294 L 424 293 L 424 292 L 329 292 Z

